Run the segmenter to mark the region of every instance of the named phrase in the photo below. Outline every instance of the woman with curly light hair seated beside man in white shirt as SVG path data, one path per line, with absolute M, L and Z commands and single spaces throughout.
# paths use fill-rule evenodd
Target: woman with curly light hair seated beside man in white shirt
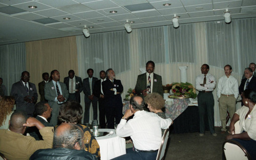
M 166 116 L 162 109 L 164 108 L 165 101 L 163 97 L 158 93 L 148 94 L 145 97 L 145 103 L 147 104 L 147 108 L 150 109 L 151 112 L 156 113 L 162 119 L 166 119 Z M 162 135 L 164 133 L 164 129 L 162 130 Z

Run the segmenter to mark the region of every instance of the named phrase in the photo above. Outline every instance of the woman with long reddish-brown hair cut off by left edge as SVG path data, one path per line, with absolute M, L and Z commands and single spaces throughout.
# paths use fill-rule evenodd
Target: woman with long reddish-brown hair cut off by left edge
M 9 120 L 13 113 L 12 109 L 15 99 L 11 96 L 5 96 L 0 101 L 0 129 L 8 129 Z

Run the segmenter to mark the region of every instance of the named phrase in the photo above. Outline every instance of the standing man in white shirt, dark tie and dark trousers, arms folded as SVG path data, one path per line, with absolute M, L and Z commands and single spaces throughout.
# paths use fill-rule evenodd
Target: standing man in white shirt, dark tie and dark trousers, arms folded
M 198 110 L 199 110 L 199 123 L 200 123 L 200 136 L 204 135 L 205 124 L 204 115 L 207 112 L 207 119 L 209 124 L 210 133 L 217 136 L 214 129 L 214 96 L 212 91 L 216 86 L 215 77 L 208 73 L 209 65 L 203 64 L 201 67 L 201 75 L 196 78 L 196 89 L 199 91 Z

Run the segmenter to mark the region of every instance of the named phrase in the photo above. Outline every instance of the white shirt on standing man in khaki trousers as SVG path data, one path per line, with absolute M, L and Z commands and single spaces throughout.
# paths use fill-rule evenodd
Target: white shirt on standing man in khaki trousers
M 238 80 L 233 76 L 222 76 L 219 79 L 218 87 L 217 87 L 217 96 L 218 98 L 223 95 L 234 95 L 234 98 L 238 98 L 239 90 L 238 90 Z

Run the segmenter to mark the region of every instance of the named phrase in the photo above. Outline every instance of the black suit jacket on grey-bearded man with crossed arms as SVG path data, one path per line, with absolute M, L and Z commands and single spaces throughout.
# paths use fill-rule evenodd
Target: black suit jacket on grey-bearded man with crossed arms
M 120 80 L 114 79 L 114 83 L 112 83 L 108 78 L 102 82 L 102 90 L 104 93 L 104 98 L 106 102 L 106 107 L 112 106 L 122 106 L 122 98 L 121 94 L 115 94 L 114 90 L 110 90 L 111 88 L 116 88 L 117 92 L 123 92 L 123 85 Z

